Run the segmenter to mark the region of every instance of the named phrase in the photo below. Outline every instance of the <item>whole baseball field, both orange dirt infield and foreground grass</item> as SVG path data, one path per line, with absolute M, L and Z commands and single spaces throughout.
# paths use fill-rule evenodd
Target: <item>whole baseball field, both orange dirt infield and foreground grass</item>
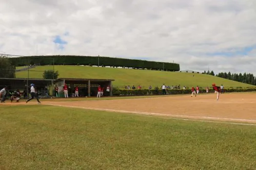
M 256 169 L 256 93 L 105 99 L 1 104 L 0 169 Z

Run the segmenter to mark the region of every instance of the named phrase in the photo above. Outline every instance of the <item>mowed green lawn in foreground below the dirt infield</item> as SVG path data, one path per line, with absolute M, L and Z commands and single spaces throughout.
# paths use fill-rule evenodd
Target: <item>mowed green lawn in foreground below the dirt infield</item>
M 253 170 L 256 126 L 0 106 L 0 170 Z

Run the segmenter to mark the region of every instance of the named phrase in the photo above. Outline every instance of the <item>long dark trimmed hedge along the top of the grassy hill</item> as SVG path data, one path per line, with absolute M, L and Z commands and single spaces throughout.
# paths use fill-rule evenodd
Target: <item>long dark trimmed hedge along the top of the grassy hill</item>
M 14 66 L 25 65 L 92 65 L 98 66 L 111 66 L 111 67 L 127 67 L 127 68 L 146 68 L 146 69 L 163 69 L 167 71 L 179 71 L 179 64 L 176 63 L 163 63 L 145 60 L 134 60 L 124 58 L 112 57 L 93 57 L 93 56 L 72 56 L 72 55 L 52 55 L 52 56 L 27 56 L 18 58 L 9 58 Z

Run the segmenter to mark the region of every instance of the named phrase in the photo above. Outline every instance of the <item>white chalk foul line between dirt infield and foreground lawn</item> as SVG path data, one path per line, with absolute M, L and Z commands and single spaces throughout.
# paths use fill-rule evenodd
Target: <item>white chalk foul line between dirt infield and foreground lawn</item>
M 194 119 L 194 120 L 199 120 L 199 121 L 206 121 L 206 120 L 201 120 L 201 119 L 212 119 L 212 120 L 226 120 L 226 121 L 242 121 L 242 122 L 248 122 L 248 123 L 236 123 L 236 122 L 225 122 L 225 123 L 256 126 L 256 124 L 249 124 L 249 122 L 256 123 L 256 119 L 232 119 L 232 118 L 216 118 L 216 117 L 204 117 L 204 116 L 173 115 L 173 114 L 137 112 L 137 111 L 126 111 L 126 110 L 115 110 L 115 109 L 91 108 L 91 107 L 82 107 L 82 106 L 69 106 L 69 105 L 60 105 L 60 104 L 45 104 L 45 105 L 71 107 L 71 108 L 82 108 L 82 109 L 88 109 L 88 110 L 98 110 L 98 111 L 107 111 L 107 112 L 130 113 L 130 114 L 138 114 L 138 115 L 155 115 L 155 116 L 164 116 L 164 117 L 169 117 L 169 118 L 188 118 L 188 119 L 183 119 L 183 120 Z M 189 118 L 191 118 L 191 119 L 189 119 Z M 209 120 L 207 120 L 207 121 L 209 121 Z M 212 122 L 220 122 L 220 121 L 212 121 Z

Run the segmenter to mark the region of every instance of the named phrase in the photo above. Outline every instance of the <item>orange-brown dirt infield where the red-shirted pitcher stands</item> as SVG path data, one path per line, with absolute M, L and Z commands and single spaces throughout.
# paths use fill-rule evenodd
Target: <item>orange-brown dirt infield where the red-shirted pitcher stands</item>
M 215 99 L 216 94 L 209 94 L 193 98 L 188 95 L 108 101 L 43 102 L 42 104 L 182 119 L 256 123 L 256 94 L 221 94 L 219 101 Z M 25 102 L 10 104 L 25 104 Z

